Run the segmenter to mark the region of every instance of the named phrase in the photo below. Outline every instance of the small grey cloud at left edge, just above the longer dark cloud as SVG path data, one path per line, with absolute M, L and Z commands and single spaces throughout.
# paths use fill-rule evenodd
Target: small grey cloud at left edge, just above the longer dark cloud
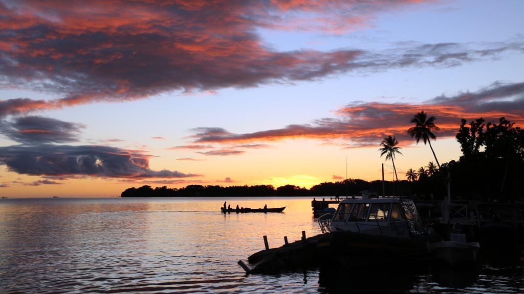
M 26 116 L 0 125 L 7 138 L 24 144 L 65 143 L 78 141 L 84 126 L 54 118 Z

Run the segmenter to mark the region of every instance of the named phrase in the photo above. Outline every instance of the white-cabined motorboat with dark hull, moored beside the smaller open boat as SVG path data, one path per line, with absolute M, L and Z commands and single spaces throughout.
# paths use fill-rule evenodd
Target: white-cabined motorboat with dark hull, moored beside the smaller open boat
M 377 266 L 391 258 L 429 258 L 429 244 L 441 241 L 425 228 L 413 200 L 400 197 L 344 199 L 332 217 L 319 218 L 326 235 L 319 250 L 328 263 Z

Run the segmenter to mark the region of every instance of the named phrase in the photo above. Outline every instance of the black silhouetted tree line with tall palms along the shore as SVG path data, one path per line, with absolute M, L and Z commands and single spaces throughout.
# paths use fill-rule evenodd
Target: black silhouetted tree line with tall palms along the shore
M 407 180 L 398 180 L 395 168 L 395 155 L 402 154 L 395 135 L 388 135 L 380 143 L 380 156 L 386 155 L 394 166 L 396 180 L 367 182 L 362 179 L 346 179 L 340 182 L 325 182 L 301 188 L 285 185 L 278 188 L 272 185 L 256 186 L 203 186 L 189 185 L 184 188 L 167 186 L 152 188 L 142 186 L 128 188 L 121 197 L 285 197 L 285 196 L 352 196 L 367 190 L 381 195 L 383 185 L 388 196 L 411 197 L 415 199 L 442 200 L 447 194 L 447 183 L 451 187 L 453 199 L 523 201 L 522 174 L 524 171 L 524 130 L 515 127 L 504 117 L 498 123 L 487 122 L 483 118 L 467 123 L 461 120 L 456 140 L 461 145 L 462 156 L 459 161 L 440 164 L 436 158 L 431 140 L 436 139 L 433 131 L 435 117 L 428 117 L 423 111 L 411 120 L 414 127 L 408 130 L 412 138 L 429 144 L 436 165 L 429 162 L 418 171 L 412 168 L 406 173 Z M 448 177 L 450 175 L 450 177 Z M 444 184 L 444 185 L 443 185 Z

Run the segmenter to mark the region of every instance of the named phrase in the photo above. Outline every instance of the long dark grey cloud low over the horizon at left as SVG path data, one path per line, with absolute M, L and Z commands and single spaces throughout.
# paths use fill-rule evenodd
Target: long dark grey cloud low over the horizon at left
M 153 171 L 150 155 L 108 146 L 42 144 L 0 147 L 0 164 L 27 175 L 122 178 L 182 178 L 199 176 L 177 171 Z

